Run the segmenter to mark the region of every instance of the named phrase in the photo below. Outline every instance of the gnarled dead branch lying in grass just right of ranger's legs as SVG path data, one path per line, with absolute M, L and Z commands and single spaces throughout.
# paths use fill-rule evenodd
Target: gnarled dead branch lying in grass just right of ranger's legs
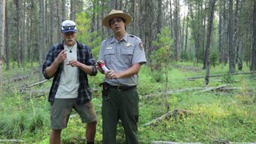
M 147 122 L 146 124 L 144 124 L 144 126 L 150 126 L 150 125 L 154 124 L 155 122 L 159 122 L 159 121 L 162 121 L 165 118 L 169 118 L 171 115 L 173 115 L 175 117 L 177 115 L 184 115 L 184 114 L 191 114 L 191 113 L 193 113 L 191 110 L 175 109 L 172 112 L 168 112 L 166 114 L 163 114 L 159 118 L 155 118 L 151 122 Z

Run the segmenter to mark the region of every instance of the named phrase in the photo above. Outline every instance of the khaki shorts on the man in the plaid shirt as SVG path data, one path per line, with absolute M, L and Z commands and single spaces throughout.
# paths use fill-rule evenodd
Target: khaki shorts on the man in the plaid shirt
M 62 130 L 63 128 L 66 128 L 72 109 L 77 111 L 82 123 L 97 121 L 93 102 L 90 101 L 78 105 L 77 98 L 55 98 L 54 103 L 51 106 L 51 128 L 54 130 Z

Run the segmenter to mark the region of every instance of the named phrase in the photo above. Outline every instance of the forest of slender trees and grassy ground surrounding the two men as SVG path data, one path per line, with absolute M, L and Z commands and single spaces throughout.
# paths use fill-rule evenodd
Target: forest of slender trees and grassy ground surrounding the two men
M 0 0 L 0 7 L 0 143 L 49 141 L 51 80 L 42 63 L 62 42 L 61 23 L 76 22 L 77 40 L 97 59 L 112 35 L 102 18 L 113 9 L 130 14 L 126 32 L 146 52 L 138 86 L 142 143 L 256 142 L 256 1 Z M 99 143 L 102 79 L 90 78 Z M 62 142 L 82 142 L 75 114 L 69 125 Z

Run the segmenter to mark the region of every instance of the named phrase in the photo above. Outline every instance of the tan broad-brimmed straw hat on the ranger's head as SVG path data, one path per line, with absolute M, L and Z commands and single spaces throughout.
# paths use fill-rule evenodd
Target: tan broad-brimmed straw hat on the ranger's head
M 126 26 L 130 24 L 131 22 L 131 16 L 129 14 L 125 14 L 122 12 L 122 10 L 111 10 L 110 13 L 102 19 L 102 25 L 106 26 L 107 28 L 110 28 L 110 19 L 120 17 L 126 20 Z

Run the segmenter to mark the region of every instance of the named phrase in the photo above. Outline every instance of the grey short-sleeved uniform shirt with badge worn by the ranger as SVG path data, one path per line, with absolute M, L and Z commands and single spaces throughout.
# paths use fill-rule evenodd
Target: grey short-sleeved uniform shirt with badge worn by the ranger
M 142 46 L 142 40 L 134 35 L 125 34 L 122 40 L 106 38 L 102 41 L 98 60 L 116 73 L 129 69 L 135 63 L 146 63 L 146 55 Z M 112 86 L 134 86 L 138 84 L 138 75 L 130 78 L 105 79 L 104 82 Z

